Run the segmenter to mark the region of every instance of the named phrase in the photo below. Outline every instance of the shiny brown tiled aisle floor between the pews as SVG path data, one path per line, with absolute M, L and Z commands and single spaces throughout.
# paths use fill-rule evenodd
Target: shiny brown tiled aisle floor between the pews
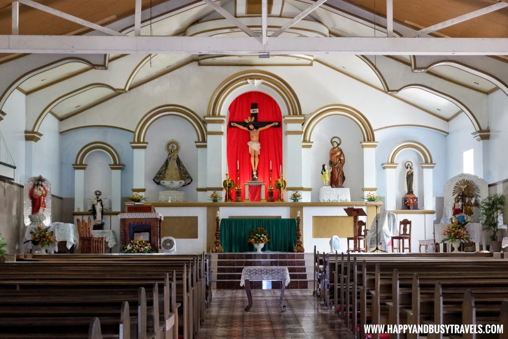
M 252 290 L 252 309 L 245 312 L 244 290 L 217 290 L 198 339 L 355 339 L 332 310 L 317 302 L 310 290 L 286 290 L 286 312 L 280 311 L 279 296 L 280 290 Z

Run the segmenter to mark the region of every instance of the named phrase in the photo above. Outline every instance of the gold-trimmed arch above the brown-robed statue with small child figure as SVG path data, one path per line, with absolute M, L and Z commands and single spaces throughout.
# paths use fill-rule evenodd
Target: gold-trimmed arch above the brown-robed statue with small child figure
M 376 141 L 372 125 L 370 125 L 369 120 L 362 112 L 351 106 L 334 104 L 321 107 L 309 114 L 309 117 L 303 124 L 303 142 L 311 141 L 312 132 L 321 120 L 336 115 L 353 120 L 362 133 L 363 142 Z

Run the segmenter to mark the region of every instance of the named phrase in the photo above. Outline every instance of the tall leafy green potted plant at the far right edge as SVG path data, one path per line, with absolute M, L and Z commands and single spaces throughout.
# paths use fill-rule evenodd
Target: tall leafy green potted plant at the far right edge
M 480 223 L 490 231 L 490 245 L 493 252 L 501 251 L 501 241 L 497 240 L 499 214 L 504 209 L 504 195 L 492 194 L 480 201 Z

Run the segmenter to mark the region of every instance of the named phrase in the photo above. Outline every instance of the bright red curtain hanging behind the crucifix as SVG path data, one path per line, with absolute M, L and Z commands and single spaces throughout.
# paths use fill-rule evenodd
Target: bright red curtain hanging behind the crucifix
M 280 108 L 272 97 L 261 92 L 251 91 L 240 95 L 229 106 L 229 122 L 244 121 L 250 116 L 250 104 L 258 103 L 259 121 L 278 121 L 277 127 L 272 127 L 260 132 L 259 142 L 261 151 L 259 155 L 258 180 L 266 184 L 265 199 L 268 199 L 268 178 L 270 175 L 270 161 L 272 162 L 272 185 L 279 176 L 279 168 L 282 165 L 282 115 Z M 242 200 L 245 199 L 245 187 L 251 180 L 250 154 L 247 142 L 250 141 L 249 133 L 236 127 L 230 127 L 228 123 L 228 169 L 229 175 L 237 181 L 237 161 L 240 166 L 240 186 L 242 188 Z M 274 198 L 278 197 L 274 190 Z

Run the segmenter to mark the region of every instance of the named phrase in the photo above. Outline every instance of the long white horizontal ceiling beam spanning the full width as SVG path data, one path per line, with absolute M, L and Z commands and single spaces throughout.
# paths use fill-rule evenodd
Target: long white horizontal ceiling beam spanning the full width
M 0 53 L 508 55 L 508 38 L 110 37 L 0 35 Z

